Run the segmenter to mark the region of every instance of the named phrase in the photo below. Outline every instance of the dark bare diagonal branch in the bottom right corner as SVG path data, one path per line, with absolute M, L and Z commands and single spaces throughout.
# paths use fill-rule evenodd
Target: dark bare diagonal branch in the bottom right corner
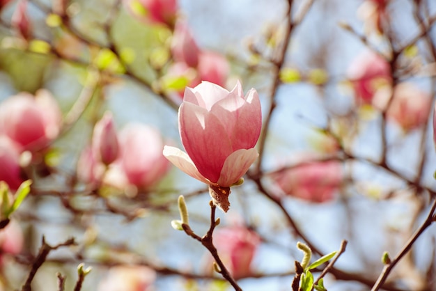
M 435 209 L 436 209 L 436 199 L 433 200 L 433 205 L 431 206 L 430 211 L 428 212 L 427 219 L 422 223 L 421 227 L 418 230 L 416 230 L 416 233 L 412 237 L 410 237 L 409 241 L 405 244 L 405 246 L 400 251 L 400 253 L 398 253 L 398 255 L 396 255 L 396 257 L 393 260 L 391 260 L 389 264 L 384 265 L 382 273 L 377 278 L 377 281 L 375 282 L 375 285 L 373 286 L 371 291 L 377 291 L 383 287 L 383 284 L 386 281 L 387 276 L 389 276 L 392 269 L 394 269 L 394 267 L 401 260 L 401 258 L 403 258 L 403 256 L 407 252 L 409 252 L 410 249 L 412 249 L 414 242 L 416 242 L 416 239 L 418 239 L 418 237 L 421 236 L 424 230 L 426 230 L 428 226 L 430 226 L 433 223 L 433 221 L 435 220 L 435 217 L 433 217 L 433 213 L 435 212 Z

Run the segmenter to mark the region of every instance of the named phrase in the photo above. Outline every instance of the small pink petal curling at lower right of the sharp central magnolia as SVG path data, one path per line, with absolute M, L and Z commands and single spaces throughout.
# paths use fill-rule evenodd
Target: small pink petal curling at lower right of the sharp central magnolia
M 228 156 L 226 162 L 224 162 L 217 184 L 219 184 L 220 187 L 230 187 L 247 173 L 249 167 L 256 161 L 258 155 L 256 148 L 250 148 L 249 150 L 242 149 L 233 152 Z

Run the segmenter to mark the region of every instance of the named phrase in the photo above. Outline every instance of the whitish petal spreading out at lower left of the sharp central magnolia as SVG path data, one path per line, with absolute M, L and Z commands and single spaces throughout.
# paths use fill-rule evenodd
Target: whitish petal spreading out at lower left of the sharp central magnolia
M 173 163 L 174 166 L 180 168 L 180 170 L 187 173 L 192 178 L 196 178 L 197 180 L 200 180 L 206 184 L 211 184 L 208 179 L 204 178 L 203 175 L 198 172 L 196 166 L 192 162 L 192 159 L 189 158 L 186 152 L 183 152 L 182 150 L 173 146 L 164 146 L 164 157 L 169 159 L 169 162 Z

